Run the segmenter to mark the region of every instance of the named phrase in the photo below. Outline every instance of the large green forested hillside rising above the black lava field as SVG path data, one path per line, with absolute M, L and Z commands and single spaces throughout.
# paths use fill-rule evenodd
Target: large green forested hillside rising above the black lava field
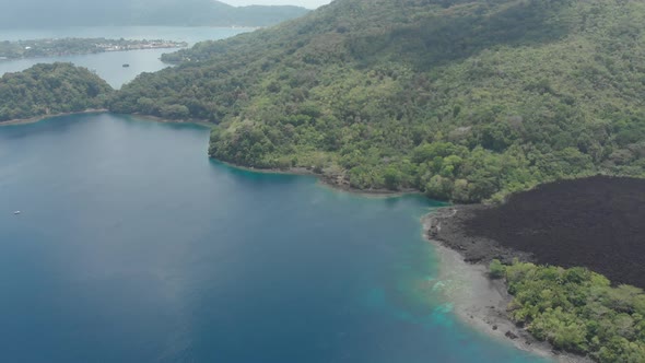
M 110 104 L 207 119 L 210 154 L 473 202 L 645 176 L 645 2 L 337 0 L 166 57 Z

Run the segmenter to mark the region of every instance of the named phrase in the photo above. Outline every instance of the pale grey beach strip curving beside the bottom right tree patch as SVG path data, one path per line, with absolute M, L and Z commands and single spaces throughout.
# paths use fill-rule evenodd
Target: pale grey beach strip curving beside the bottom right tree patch
M 587 356 L 558 351 L 550 343 L 539 341 L 529 331 L 518 327 L 507 314 L 507 306 L 513 296 L 506 291 L 506 283 L 503 280 L 489 278 L 486 258 L 469 260 L 468 256 L 472 255 L 469 255 L 469 250 L 464 247 L 467 241 L 462 241 L 462 245 L 456 241 L 448 244 L 445 237 L 436 237 L 434 231 L 436 231 L 437 221 L 454 218 L 454 211 L 459 211 L 460 208 L 482 208 L 482 206 L 448 207 L 434 211 L 421 220 L 423 236 L 433 245 L 438 256 L 439 280 L 443 282 L 442 293 L 454 304 L 453 313 L 459 320 L 494 339 L 512 343 L 519 350 L 555 362 L 594 362 Z M 446 224 L 439 225 L 439 230 L 445 231 Z M 472 254 L 472 250 L 470 251 Z M 496 255 L 495 249 L 491 251 L 491 255 Z M 504 253 L 508 254 L 507 257 L 513 254 L 511 250 Z M 474 254 L 479 254 L 479 250 Z

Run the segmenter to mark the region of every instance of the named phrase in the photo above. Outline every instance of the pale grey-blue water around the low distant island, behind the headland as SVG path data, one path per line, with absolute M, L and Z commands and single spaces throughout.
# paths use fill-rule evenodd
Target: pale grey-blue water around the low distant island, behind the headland
M 226 27 L 175 27 L 175 26 L 70 26 L 38 30 L 0 30 L 0 42 L 64 37 L 105 37 L 112 39 L 166 39 L 195 44 L 215 40 L 249 32 L 250 28 Z M 176 49 L 145 49 L 102 52 L 64 57 L 45 57 L 17 60 L 0 60 L 0 77 L 7 72 L 20 72 L 37 63 L 56 61 L 72 62 L 93 70 L 113 87 L 119 89 L 142 72 L 154 72 L 169 65 L 160 60 L 164 52 Z M 124 68 L 122 65 L 130 65 Z

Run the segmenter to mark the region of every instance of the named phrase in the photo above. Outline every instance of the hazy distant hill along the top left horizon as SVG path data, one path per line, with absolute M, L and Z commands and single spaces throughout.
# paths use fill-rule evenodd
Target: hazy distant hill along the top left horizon
M 24 0 L 3 4 L 0 27 L 268 26 L 307 12 L 300 7 L 232 7 L 215 0 Z

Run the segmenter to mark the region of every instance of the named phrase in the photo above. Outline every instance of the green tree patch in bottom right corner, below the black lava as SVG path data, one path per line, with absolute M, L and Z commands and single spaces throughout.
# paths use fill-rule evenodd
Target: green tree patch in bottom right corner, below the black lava
M 584 268 L 494 260 L 515 297 L 511 316 L 538 339 L 599 362 L 645 362 L 645 294 Z

